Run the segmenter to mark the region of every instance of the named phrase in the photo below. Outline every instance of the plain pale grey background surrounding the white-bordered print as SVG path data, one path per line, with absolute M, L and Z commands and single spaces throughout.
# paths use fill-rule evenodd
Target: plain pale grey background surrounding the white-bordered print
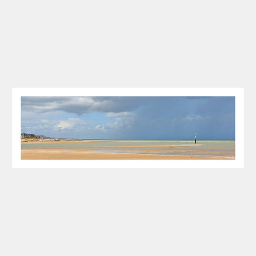
M 1 8 L 1 255 L 255 255 L 253 1 Z M 244 87 L 244 169 L 12 169 L 12 87 Z

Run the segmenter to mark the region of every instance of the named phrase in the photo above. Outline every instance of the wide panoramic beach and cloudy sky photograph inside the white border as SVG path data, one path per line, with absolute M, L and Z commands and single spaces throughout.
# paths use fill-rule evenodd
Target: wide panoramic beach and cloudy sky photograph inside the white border
M 235 97 L 21 97 L 21 159 L 235 159 Z

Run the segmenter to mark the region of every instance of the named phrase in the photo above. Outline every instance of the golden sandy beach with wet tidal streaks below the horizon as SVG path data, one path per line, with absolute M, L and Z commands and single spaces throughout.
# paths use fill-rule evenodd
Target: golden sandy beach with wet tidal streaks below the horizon
M 191 141 L 22 140 L 21 146 L 21 159 L 235 159 L 232 146 L 221 151 Z

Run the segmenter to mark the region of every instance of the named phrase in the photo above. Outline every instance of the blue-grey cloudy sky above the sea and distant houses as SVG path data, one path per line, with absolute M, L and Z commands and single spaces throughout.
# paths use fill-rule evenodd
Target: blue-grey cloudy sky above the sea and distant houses
M 76 139 L 233 140 L 235 97 L 21 97 L 21 133 Z

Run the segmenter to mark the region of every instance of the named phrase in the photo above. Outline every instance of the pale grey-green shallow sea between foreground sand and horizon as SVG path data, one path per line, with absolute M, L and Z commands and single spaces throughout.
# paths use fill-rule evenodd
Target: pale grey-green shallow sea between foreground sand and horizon
M 80 142 L 81 141 L 81 142 Z M 176 145 L 177 147 L 175 147 Z M 183 146 L 184 145 L 184 146 Z M 186 146 L 185 146 L 186 145 Z M 187 146 L 189 145 L 189 146 Z M 190 146 L 191 145 L 191 146 Z M 122 146 L 122 147 L 118 147 Z M 129 146 L 129 147 L 125 147 Z M 134 147 L 133 147 L 134 146 Z M 136 146 L 144 146 L 138 148 Z M 166 146 L 152 148 L 146 146 Z M 170 147 L 171 146 L 171 147 Z M 173 146 L 173 147 L 172 147 Z M 54 143 L 45 142 L 40 144 L 25 143 L 21 148 L 51 148 L 54 151 L 62 147 L 78 148 L 84 151 L 104 151 L 113 153 L 129 154 L 153 154 L 153 155 L 176 155 L 176 156 L 198 156 L 198 157 L 219 157 L 235 158 L 235 140 L 77 140 L 77 142 Z M 95 149 L 94 149 L 95 148 Z

